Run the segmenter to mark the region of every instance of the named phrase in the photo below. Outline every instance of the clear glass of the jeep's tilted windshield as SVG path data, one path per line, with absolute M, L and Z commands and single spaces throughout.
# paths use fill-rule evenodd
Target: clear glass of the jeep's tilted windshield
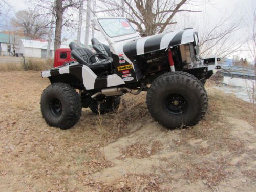
M 109 37 L 135 33 L 131 24 L 124 18 L 98 19 L 99 24 Z

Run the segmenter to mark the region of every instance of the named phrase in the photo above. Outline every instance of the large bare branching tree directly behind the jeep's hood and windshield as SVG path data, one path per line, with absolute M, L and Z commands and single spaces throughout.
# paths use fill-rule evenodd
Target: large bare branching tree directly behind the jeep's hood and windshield
M 174 16 L 178 12 L 201 12 L 185 9 L 189 0 L 122 0 L 124 5 L 115 0 L 100 1 L 110 10 L 109 15 L 121 15 L 120 10 L 124 10 L 125 17 L 143 36 L 162 33 L 167 26 L 176 24 Z

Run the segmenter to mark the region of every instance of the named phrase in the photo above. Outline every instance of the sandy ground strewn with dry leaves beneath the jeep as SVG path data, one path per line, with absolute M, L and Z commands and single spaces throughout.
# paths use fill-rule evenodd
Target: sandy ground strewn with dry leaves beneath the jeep
M 39 72 L 0 72 L 1 191 L 256 191 L 255 105 L 207 87 L 204 120 L 167 130 L 145 96 L 115 114 L 83 109 L 69 130 L 40 113 Z

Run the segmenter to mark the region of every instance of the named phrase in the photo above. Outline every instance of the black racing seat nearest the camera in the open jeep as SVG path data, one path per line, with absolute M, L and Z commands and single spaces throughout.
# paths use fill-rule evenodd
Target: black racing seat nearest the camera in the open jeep
M 75 42 L 71 42 L 69 47 L 71 49 L 72 57 L 82 65 L 88 66 L 95 74 L 105 75 L 108 74 L 108 72 L 111 72 L 112 67 L 109 59 L 96 59 L 98 54 L 94 54 L 90 49 L 82 48 Z

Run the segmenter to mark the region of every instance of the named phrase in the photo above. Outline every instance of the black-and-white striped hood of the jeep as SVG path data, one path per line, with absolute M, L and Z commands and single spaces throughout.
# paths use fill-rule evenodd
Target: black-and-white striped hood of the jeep
M 197 32 L 191 28 L 161 33 L 126 42 L 123 45 L 123 53 L 127 57 L 131 58 L 133 56 L 166 49 L 168 47 L 187 44 L 190 42 L 195 42 L 195 45 L 198 44 Z

